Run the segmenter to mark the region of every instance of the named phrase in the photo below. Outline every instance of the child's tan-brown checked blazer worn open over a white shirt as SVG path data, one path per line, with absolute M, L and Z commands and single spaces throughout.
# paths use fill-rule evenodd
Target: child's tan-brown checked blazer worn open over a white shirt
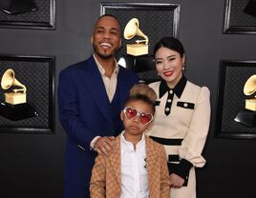
M 164 148 L 145 136 L 150 198 L 170 197 L 170 183 Z M 91 198 L 119 198 L 121 194 L 120 135 L 117 152 L 108 157 L 98 155 L 90 183 Z

